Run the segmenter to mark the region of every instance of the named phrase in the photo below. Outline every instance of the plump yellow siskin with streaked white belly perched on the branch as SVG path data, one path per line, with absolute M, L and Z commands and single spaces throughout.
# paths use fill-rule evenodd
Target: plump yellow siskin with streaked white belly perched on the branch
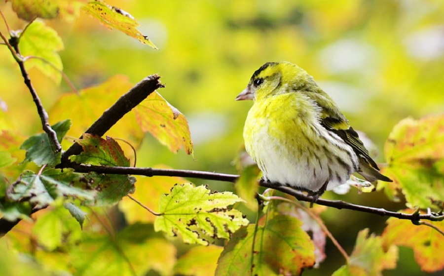
M 254 100 L 244 141 L 264 181 L 307 191 L 313 201 L 354 172 L 392 182 L 333 99 L 295 64 L 265 63 L 236 100 Z

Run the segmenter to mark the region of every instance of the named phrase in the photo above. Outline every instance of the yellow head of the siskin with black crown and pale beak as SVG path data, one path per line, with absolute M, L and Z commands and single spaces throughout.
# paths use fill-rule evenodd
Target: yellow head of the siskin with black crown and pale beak
M 258 100 L 297 89 L 313 79 L 297 65 L 287 62 L 267 62 L 251 77 L 247 88 L 237 97 L 239 100 Z

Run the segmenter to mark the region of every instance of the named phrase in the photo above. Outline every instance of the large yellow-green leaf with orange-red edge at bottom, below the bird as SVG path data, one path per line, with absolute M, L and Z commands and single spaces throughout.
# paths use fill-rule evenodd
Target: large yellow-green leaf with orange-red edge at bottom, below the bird
M 300 275 L 315 264 L 314 245 L 298 219 L 275 215 L 258 226 L 256 235 L 255 227 L 250 224 L 234 233 L 219 258 L 217 276 Z

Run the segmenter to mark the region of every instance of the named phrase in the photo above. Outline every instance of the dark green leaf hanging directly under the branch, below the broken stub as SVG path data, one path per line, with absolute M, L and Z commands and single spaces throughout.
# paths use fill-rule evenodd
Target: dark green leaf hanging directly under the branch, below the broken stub
M 136 178 L 119 174 L 98 174 L 91 172 L 85 175 L 90 188 L 97 192 L 96 205 L 110 205 L 119 202 L 122 197 L 133 194 Z

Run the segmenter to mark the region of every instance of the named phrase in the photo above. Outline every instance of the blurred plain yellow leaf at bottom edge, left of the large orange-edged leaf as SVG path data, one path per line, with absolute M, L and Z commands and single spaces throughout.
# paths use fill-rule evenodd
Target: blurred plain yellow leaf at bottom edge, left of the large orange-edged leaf
M 177 260 L 174 273 L 189 276 L 214 275 L 222 250 L 222 246 L 214 244 L 193 247 Z

